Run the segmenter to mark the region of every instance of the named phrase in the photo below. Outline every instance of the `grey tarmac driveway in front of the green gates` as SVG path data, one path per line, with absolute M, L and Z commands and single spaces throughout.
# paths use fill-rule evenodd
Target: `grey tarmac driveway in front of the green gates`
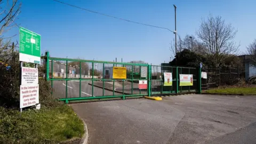
M 256 143 L 256 97 L 179 95 L 71 105 L 89 143 Z

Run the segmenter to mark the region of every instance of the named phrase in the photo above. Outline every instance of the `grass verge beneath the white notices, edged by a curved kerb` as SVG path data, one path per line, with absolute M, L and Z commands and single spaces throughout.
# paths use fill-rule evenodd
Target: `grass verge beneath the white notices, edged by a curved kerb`
M 83 133 L 82 120 L 67 105 L 22 113 L 0 107 L 0 143 L 59 143 Z

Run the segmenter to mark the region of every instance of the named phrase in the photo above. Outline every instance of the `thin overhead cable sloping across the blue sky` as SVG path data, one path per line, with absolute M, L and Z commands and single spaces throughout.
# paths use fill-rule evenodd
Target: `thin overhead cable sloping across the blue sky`
M 139 25 L 144 25 L 144 26 L 149 26 L 149 27 L 166 29 L 166 30 L 171 31 L 172 33 L 175 33 L 174 31 L 170 30 L 169 28 L 158 27 L 158 26 L 154 26 L 154 25 L 148 25 L 148 24 L 145 24 L 145 23 L 140 23 L 140 22 L 136 22 L 136 21 L 126 20 L 126 19 L 123 19 L 123 18 L 117 18 L 117 17 L 111 16 L 111 15 L 108 15 L 108 14 L 104 14 L 104 13 L 100 13 L 100 12 L 95 12 L 95 11 L 92 11 L 92 10 L 84 9 L 82 7 L 79 7 L 79 6 L 76 6 L 76 5 L 71 5 L 71 4 L 68 4 L 68 3 L 61 2 L 61 1 L 57 1 L 57 0 L 53 0 L 53 1 L 61 3 L 61 4 L 65 4 L 65 5 L 68 5 L 68 6 L 71 6 L 71 7 L 75 7 L 77 9 L 81 9 L 81 10 L 84 10 L 84 11 L 100 14 L 100 15 L 103 15 L 105 17 L 110 17 L 110 18 L 114 18 L 114 19 L 118 19 L 118 20 L 123 20 L 123 21 L 127 21 L 127 22 L 137 23 Z

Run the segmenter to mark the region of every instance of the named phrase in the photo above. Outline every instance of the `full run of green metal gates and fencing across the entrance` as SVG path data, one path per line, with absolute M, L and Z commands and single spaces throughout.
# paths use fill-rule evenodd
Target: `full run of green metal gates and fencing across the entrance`
M 201 69 L 198 68 L 51 58 L 49 52 L 46 53 L 45 62 L 46 79 L 51 82 L 52 97 L 66 103 L 72 100 L 126 99 L 201 92 Z M 113 67 L 125 67 L 126 78 L 113 79 Z M 172 73 L 172 86 L 163 85 L 163 73 L 166 72 Z M 179 74 L 192 74 L 193 86 L 179 86 Z M 139 81 L 147 81 L 147 89 L 139 89 Z

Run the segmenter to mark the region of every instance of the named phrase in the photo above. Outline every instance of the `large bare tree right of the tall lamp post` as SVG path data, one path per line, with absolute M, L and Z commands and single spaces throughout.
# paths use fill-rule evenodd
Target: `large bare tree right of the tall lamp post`
M 197 36 L 214 67 L 218 68 L 227 55 L 237 52 L 240 44 L 234 42 L 236 33 L 237 30 L 231 24 L 226 24 L 220 16 L 213 17 L 210 14 L 206 20 L 202 19 Z

